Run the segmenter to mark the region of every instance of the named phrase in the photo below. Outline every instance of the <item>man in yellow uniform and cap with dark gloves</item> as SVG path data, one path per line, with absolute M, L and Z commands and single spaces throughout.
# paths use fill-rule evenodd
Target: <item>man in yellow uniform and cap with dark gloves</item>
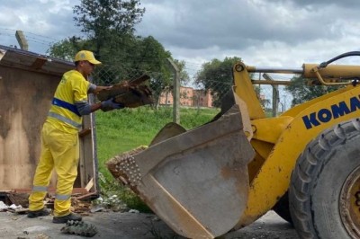
M 99 109 L 121 109 L 120 103 L 112 99 L 89 104 L 87 93 L 98 93 L 107 86 L 96 86 L 87 81 L 94 66 L 101 64 L 91 51 L 81 50 L 75 56 L 74 70 L 67 71 L 61 78 L 52 99 L 48 118 L 41 130 L 40 161 L 33 179 L 29 197 L 28 217 L 49 215 L 44 208 L 51 172 L 55 168 L 58 182 L 54 203 L 53 223 L 66 223 L 67 220 L 81 221 L 81 217 L 70 211 L 71 193 L 77 175 L 79 161 L 78 130 L 82 116 Z

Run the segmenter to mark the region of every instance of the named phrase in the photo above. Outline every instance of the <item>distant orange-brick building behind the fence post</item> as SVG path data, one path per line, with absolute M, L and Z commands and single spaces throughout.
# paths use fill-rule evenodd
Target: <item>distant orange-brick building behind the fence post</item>
M 172 105 L 174 103 L 173 93 L 161 93 L 159 104 Z M 180 86 L 180 105 L 189 107 L 212 107 L 210 91 L 195 90 L 192 87 Z

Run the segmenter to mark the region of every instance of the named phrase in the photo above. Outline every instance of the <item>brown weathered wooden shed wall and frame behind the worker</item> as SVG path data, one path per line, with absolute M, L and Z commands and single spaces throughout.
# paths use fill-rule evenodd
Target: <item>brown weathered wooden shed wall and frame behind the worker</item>
M 31 190 L 42 124 L 61 75 L 73 67 L 70 62 L 0 45 L 0 190 Z M 75 188 L 94 182 L 90 192 L 98 188 L 94 138 L 94 115 L 85 116 Z M 55 183 L 53 177 L 50 187 L 55 188 Z

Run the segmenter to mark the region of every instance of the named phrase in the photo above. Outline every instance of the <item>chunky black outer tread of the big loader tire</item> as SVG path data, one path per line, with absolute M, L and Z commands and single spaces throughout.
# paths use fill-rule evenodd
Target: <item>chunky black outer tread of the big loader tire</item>
M 343 144 L 348 137 L 359 132 L 359 119 L 338 124 L 312 140 L 299 156 L 292 173 L 289 203 L 293 226 L 301 238 L 319 238 L 316 226 L 313 225 L 311 188 L 315 185 L 324 162 L 335 146 Z

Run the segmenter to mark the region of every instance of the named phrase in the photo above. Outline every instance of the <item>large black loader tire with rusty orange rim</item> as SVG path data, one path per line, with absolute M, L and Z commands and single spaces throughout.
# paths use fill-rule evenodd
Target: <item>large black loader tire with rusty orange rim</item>
M 289 203 L 301 238 L 360 238 L 360 119 L 308 144 L 292 173 Z

